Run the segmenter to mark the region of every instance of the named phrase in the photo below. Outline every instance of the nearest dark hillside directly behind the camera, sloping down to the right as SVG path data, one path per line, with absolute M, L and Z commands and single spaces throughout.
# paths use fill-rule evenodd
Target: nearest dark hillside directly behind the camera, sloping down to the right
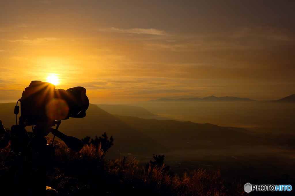
M 5 128 L 10 128 L 15 124 L 14 105 L 14 103 L 0 104 L 0 119 Z M 30 131 L 31 126 L 27 127 L 27 130 Z M 89 104 L 86 117 L 63 120 L 58 130 L 79 139 L 86 136 L 94 138 L 95 135 L 101 136 L 106 132 L 108 137 L 113 136 L 114 146 L 111 151 L 117 152 L 117 154 L 121 152 L 132 154 L 144 152 L 152 155 L 159 151 L 163 152 L 163 146 L 155 142 L 154 139 L 94 104 Z M 52 134 L 49 134 L 49 136 L 52 136 Z

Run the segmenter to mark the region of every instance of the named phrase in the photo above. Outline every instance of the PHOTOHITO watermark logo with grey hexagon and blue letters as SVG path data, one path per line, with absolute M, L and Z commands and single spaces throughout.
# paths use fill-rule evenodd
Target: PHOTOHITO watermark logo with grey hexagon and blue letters
M 251 191 L 291 191 L 291 185 L 251 185 L 249 182 L 245 184 L 245 192 Z

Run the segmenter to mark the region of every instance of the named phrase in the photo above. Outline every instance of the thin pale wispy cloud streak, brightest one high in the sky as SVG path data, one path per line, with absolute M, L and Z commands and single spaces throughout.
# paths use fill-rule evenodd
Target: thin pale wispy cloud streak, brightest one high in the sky
M 97 29 L 97 31 L 107 32 L 107 33 L 127 33 L 127 34 L 151 34 L 151 35 L 169 35 L 163 30 L 158 29 L 141 29 L 141 28 L 133 28 L 133 29 L 118 29 L 115 27 L 107 28 L 107 29 Z

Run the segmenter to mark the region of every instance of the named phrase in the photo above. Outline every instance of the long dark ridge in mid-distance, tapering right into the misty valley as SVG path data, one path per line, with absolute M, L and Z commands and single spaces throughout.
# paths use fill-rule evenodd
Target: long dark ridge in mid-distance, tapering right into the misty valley
M 225 147 L 258 143 L 246 129 L 220 127 L 214 124 L 179 122 L 174 120 L 140 119 L 117 116 L 118 119 L 147 134 L 171 150 Z

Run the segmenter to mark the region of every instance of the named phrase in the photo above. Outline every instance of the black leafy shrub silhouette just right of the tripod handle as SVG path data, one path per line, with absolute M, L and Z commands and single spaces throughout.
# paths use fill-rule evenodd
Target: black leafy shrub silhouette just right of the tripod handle
M 110 139 L 108 139 L 106 132 L 104 132 L 104 134 L 102 134 L 101 136 L 99 136 L 99 137 L 95 136 L 95 139 L 92 139 L 89 136 L 86 136 L 82 139 L 82 142 L 85 145 L 92 144 L 96 148 L 98 148 L 99 144 L 101 143 L 101 149 L 104 152 L 107 152 L 109 150 L 109 148 L 112 147 L 112 145 L 114 145 L 113 144 L 113 141 L 114 141 L 113 136 L 111 136 Z M 90 139 L 91 139 L 91 141 L 90 141 Z

